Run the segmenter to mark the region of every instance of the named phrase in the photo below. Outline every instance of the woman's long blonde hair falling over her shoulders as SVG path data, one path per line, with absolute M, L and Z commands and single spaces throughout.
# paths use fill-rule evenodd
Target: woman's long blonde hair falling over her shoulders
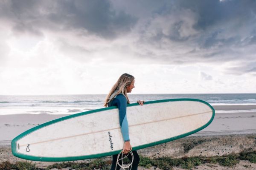
M 113 85 L 113 87 L 111 88 L 111 91 L 109 92 L 108 96 L 106 97 L 104 106 L 107 107 L 108 103 L 111 102 L 111 100 L 118 94 L 123 94 L 128 103 L 130 103 L 128 96 L 127 96 L 127 92 L 126 92 L 126 87 L 128 85 L 131 85 L 131 82 L 134 81 L 134 77 L 130 74 L 122 74 L 119 79 L 117 80 L 117 82 Z

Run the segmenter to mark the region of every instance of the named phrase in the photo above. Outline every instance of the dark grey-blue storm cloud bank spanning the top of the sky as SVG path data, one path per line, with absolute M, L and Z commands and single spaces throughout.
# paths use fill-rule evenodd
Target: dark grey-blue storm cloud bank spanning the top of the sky
M 250 64 L 256 63 L 252 57 L 256 54 L 255 0 L 2 0 L 0 19 L 11 24 L 16 34 L 79 30 L 72 35 L 97 35 L 104 43 L 110 42 L 104 50 L 117 51 L 127 45 L 127 54 L 144 63 L 236 61 L 243 65 L 227 68 L 228 74 L 256 73 Z M 84 61 L 83 54 L 90 57 L 92 52 L 102 52 L 96 42 L 95 51 L 84 48 L 86 43 L 62 43 L 60 48 Z

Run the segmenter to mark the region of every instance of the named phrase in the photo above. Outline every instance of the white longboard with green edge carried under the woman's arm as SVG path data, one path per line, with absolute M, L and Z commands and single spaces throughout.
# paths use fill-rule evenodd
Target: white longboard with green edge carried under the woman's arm
M 165 99 L 127 105 L 133 150 L 179 139 L 207 127 L 215 110 L 199 99 Z M 116 106 L 65 116 L 21 133 L 12 153 L 34 161 L 74 161 L 118 154 L 124 141 Z

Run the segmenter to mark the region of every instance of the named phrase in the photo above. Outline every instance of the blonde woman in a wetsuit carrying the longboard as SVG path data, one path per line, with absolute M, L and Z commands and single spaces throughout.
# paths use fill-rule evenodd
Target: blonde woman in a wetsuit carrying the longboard
M 117 80 L 116 84 L 113 85 L 111 91 L 109 92 L 105 104 L 105 107 L 110 106 L 117 106 L 119 109 L 119 123 L 121 126 L 121 132 L 124 139 L 124 146 L 122 153 L 127 154 L 130 150 L 132 150 L 129 138 L 129 129 L 128 129 L 128 122 L 126 118 L 126 106 L 130 103 L 127 93 L 131 93 L 132 89 L 135 88 L 134 86 L 134 77 L 130 74 L 122 74 L 121 77 Z M 139 105 L 143 105 L 144 101 L 137 101 Z M 138 164 L 140 161 L 140 157 L 136 150 L 132 151 L 134 155 L 134 161 L 130 168 L 130 170 L 137 170 Z M 128 159 L 131 160 L 131 154 L 128 155 Z M 117 165 L 117 155 L 113 155 L 111 170 L 119 170 L 120 167 Z M 121 164 L 121 162 L 119 162 Z

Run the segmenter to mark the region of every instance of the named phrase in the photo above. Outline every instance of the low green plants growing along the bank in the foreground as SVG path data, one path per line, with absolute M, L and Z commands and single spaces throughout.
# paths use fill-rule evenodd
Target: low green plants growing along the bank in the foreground
M 140 156 L 140 166 L 145 168 L 158 167 L 162 170 L 172 170 L 172 167 L 181 167 L 183 169 L 191 169 L 195 166 L 210 163 L 210 164 L 220 164 L 224 167 L 233 167 L 239 163 L 240 160 L 247 160 L 251 163 L 256 163 L 256 151 L 244 151 L 237 154 L 229 154 L 224 156 L 196 156 L 196 157 L 183 157 L 180 159 L 171 157 L 161 157 L 150 159 L 145 156 Z M 124 160 L 128 163 L 128 159 Z M 0 170 L 49 170 L 49 169 L 61 169 L 69 168 L 70 170 L 109 170 L 111 167 L 111 161 L 105 161 L 104 159 L 94 159 L 90 163 L 76 163 L 76 162 L 61 162 L 55 163 L 48 166 L 46 169 L 38 168 L 32 161 L 17 161 L 15 164 L 11 164 L 9 161 L 5 161 L 0 164 Z

